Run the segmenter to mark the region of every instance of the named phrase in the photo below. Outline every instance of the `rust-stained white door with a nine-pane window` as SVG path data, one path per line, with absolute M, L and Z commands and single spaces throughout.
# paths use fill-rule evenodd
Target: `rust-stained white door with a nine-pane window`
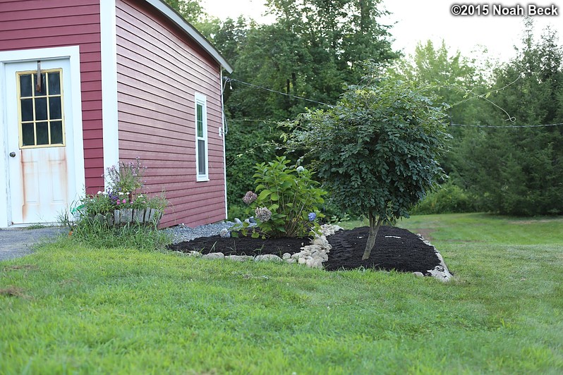
M 4 66 L 9 221 L 55 223 L 76 195 L 70 61 Z

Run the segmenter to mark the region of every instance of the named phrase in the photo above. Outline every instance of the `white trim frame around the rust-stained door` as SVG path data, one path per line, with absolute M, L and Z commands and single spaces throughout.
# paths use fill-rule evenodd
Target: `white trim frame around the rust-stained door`
M 6 87 L 6 63 L 17 63 L 25 61 L 69 59 L 71 66 L 71 95 L 73 112 L 73 146 L 74 146 L 74 180 L 75 192 L 80 194 L 85 190 L 84 171 L 84 141 L 82 126 L 82 93 L 80 90 L 80 48 L 78 46 L 55 47 L 44 49 L 23 49 L 18 51 L 0 52 L 0 87 Z M 0 228 L 11 225 L 11 207 L 8 197 L 11 196 L 8 181 L 8 131 L 7 113 L 4 110 L 8 104 L 6 90 L 0 90 L 0 191 L 6 192 L 6 199 L 0 199 Z M 1 195 L 0 195 L 1 196 Z M 69 197 L 69 201 L 78 197 Z

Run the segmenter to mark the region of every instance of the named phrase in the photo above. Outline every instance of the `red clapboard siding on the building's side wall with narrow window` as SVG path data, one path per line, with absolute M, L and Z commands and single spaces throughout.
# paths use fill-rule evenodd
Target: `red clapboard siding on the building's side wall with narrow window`
M 219 63 L 150 5 L 116 1 L 119 155 L 140 156 L 146 187 L 171 207 L 162 226 L 225 219 Z M 207 97 L 209 178 L 196 182 L 194 94 Z

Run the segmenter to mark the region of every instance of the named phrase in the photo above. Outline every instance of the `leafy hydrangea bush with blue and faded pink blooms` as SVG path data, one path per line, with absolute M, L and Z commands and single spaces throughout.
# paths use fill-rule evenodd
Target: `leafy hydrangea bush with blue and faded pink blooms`
M 323 216 L 318 207 L 327 192 L 313 180 L 311 171 L 290 163 L 278 156 L 276 161 L 254 167 L 255 192 L 243 197 L 248 214 L 257 219 L 253 237 L 303 237 L 318 229 L 317 218 Z

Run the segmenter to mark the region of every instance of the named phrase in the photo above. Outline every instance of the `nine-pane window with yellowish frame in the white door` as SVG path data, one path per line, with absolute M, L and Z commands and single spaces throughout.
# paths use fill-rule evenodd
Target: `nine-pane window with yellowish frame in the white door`
M 61 69 L 17 75 L 20 148 L 64 146 Z

